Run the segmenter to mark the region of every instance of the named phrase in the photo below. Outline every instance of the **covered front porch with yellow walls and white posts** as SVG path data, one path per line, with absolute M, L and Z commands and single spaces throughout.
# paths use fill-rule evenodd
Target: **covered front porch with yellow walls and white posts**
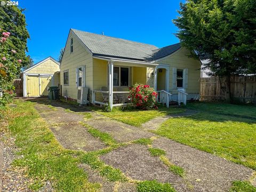
M 110 109 L 126 106 L 131 103 L 129 87 L 139 83 L 154 87 L 158 93 L 158 102 L 169 107 L 172 97 L 169 92 L 169 66 L 99 57 L 94 57 L 93 64 L 93 105 L 109 106 Z M 159 71 L 164 73 L 159 74 Z M 179 98 L 184 100 L 186 93 L 181 90 L 179 94 Z

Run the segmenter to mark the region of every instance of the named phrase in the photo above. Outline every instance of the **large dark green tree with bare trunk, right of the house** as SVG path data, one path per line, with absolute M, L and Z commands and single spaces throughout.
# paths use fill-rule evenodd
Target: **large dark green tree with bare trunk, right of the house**
M 256 1 L 187 0 L 174 19 L 177 37 L 191 55 L 206 64 L 215 75 L 226 77 L 230 101 L 230 76 L 256 73 Z

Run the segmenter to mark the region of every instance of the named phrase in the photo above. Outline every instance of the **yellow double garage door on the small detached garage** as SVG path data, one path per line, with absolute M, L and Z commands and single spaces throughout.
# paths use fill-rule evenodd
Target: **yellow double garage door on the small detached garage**
M 51 76 L 30 76 L 27 75 L 27 96 L 47 96 L 47 87 L 51 86 Z

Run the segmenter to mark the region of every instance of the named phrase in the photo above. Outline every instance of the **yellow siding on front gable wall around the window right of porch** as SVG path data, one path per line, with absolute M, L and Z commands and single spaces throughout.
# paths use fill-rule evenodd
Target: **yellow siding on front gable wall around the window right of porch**
M 177 52 L 170 55 L 170 57 L 158 61 L 159 65 L 166 64 L 170 66 L 170 91 L 173 89 L 172 76 L 173 76 L 173 67 L 177 69 L 188 69 L 188 87 L 186 89 L 187 93 L 199 93 L 200 89 L 200 68 L 201 62 L 199 60 L 189 58 L 189 50 L 185 47 L 182 47 Z

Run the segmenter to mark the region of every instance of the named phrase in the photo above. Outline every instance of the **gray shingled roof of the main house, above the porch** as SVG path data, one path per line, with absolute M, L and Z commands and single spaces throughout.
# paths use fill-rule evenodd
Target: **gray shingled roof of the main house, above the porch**
M 155 60 L 173 53 L 180 44 L 169 45 L 158 49 L 154 45 L 128 41 L 121 38 L 109 37 L 71 29 L 95 56 L 126 58 L 134 60 Z

